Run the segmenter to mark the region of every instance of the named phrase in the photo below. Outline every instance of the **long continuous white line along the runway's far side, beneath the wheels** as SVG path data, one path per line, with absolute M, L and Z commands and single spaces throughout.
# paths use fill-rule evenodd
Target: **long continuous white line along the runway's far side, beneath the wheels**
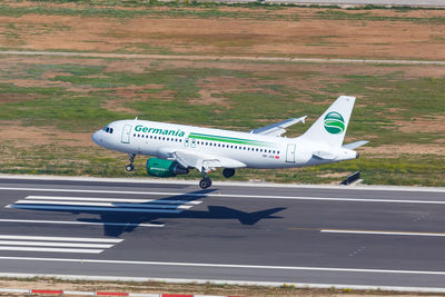
M 55 191 L 55 192 L 95 192 L 95 194 L 120 194 L 120 195 L 152 195 L 152 196 L 181 196 L 181 197 L 224 197 L 247 199 L 288 199 L 288 200 L 319 200 L 319 201 L 353 201 L 353 202 L 382 202 L 382 204 L 428 204 L 445 205 L 445 200 L 411 200 L 411 199 L 373 199 L 373 198 L 347 198 L 347 197 L 303 197 L 303 196 L 264 196 L 264 195 L 236 195 L 236 194 L 187 194 L 187 192 L 157 192 L 157 191 L 120 191 L 120 190 L 81 190 L 81 189 L 53 189 L 53 188 L 10 188 L 0 187 L 0 190 L 20 191 Z M 164 201 L 164 200 L 159 200 Z M 199 201 L 200 202 L 200 201 Z

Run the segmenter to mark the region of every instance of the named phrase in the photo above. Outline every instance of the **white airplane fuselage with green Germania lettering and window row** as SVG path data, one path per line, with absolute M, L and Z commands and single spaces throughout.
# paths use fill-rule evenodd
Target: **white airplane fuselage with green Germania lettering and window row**
M 146 120 L 113 121 L 95 132 L 92 140 L 105 148 L 127 154 L 168 159 L 174 151 L 195 151 L 237 160 L 245 165 L 243 167 L 265 169 L 313 166 L 358 157 L 354 150 L 304 138 L 271 137 Z M 326 151 L 329 152 L 328 158 L 315 157 L 317 152 Z

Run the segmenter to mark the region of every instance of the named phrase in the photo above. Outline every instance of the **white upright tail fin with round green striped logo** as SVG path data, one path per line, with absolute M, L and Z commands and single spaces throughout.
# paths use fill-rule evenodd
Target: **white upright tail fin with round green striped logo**
M 354 102 L 355 97 L 338 97 L 301 138 L 316 142 L 325 142 L 333 147 L 340 147 L 345 139 Z

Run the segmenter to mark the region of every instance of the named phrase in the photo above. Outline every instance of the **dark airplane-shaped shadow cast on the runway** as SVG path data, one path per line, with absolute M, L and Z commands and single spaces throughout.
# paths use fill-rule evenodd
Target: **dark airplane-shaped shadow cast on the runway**
M 225 206 L 207 206 L 207 210 L 190 210 L 184 209 L 178 210 L 176 207 L 180 206 L 195 206 L 199 202 L 198 200 L 205 199 L 206 194 L 210 194 L 216 189 L 207 189 L 187 192 L 182 195 L 169 196 L 160 199 L 152 199 L 148 202 L 138 204 L 139 206 L 147 205 L 151 207 L 147 209 L 137 209 L 137 211 L 131 211 L 131 202 L 112 202 L 113 206 L 125 208 L 128 211 L 102 211 L 100 208 L 95 210 L 82 209 L 78 207 L 76 210 L 69 209 L 32 209 L 38 211 L 63 211 L 71 212 L 75 215 L 90 214 L 96 215 L 98 218 L 78 218 L 78 221 L 85 222 L 98 222 L 103 224 L 103 235 L 111 237 L 119 237 L 123 232 L 132 232 L 140 224 L 161 224 L 159 219 L 168 218 L 191 218 L 191 219 L 237 219 L 243 225 L 255 225 L 263 219 L 277 219 L 283 218 L 279 216 L 274 216 L 274 214 L 283 211 L 284 207 L 264 209 L 254 212 L 246 212 L 243 210 L 225 207 Z M 175 204 L 171 206 L 171 204 Z M 128 207 L 128 208 L 127 208 Z M 167 208 L 162 208 L 167 207 Z M 22 207 L 20 207 L 22 208 Z M 27 209 L 27 208 L 23 208 Z M 28 208 L 30 209 L 30 208 Z M 166 210 L 167 209 L 167 210 Z M 171 209 L 171 210 L 170 210 Z

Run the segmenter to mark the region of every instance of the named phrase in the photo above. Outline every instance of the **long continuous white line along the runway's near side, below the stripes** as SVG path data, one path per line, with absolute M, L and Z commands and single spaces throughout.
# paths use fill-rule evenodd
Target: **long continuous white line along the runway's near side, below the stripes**
M 78 263 L 78 264 L 111 264 L 111 265 L 113 265 L 115 269 L 118 269 L 118 266 L 116 266 L 116 265 L 147 265 L 147 266 L 180 266 L 180 267 L 201 267 L 201 268 L 211 267 L 211 268 L 236 268 L 236 269 L 308 270 L 308 271 L 334 271 L 334 273 L 368 273 L 368 274 L 404 274 L 404 275 L 445 276 L 445 271 L 441 271 L 441 270 L 426 271 L 426 270 L 397 270 L 397 269 L 264 266 L 264 265 L 208 264 L 208 263 L 130 261 L 130 260 L 36 258 L 36 257 L 0 257 L 0 260 L 58 261 L 58 263 Z

